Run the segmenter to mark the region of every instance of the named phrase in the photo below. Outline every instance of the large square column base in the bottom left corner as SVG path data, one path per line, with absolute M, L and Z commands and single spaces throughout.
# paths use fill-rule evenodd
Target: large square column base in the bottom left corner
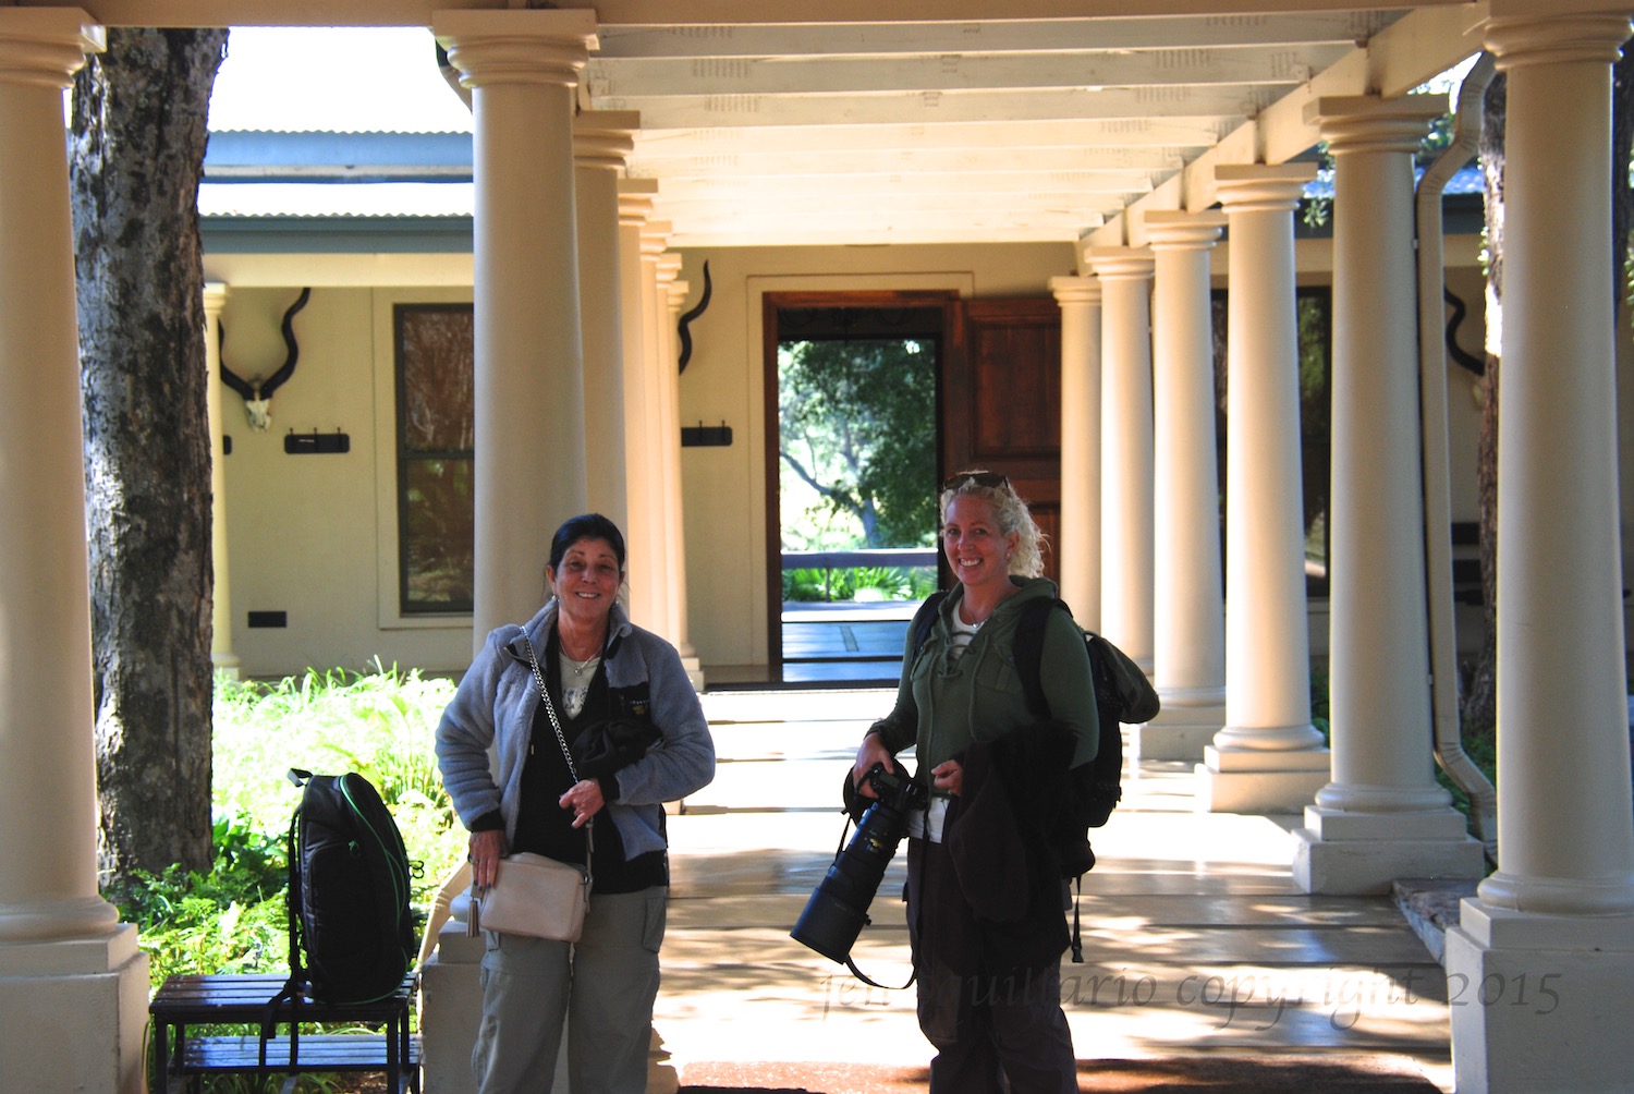
M 147 1091 L 147 953 L 136 927 L 0 945 L 8 1091 Z

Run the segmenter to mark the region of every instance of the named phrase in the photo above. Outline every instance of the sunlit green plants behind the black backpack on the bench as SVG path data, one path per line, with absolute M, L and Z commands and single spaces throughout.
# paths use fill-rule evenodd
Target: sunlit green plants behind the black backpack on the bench
M 137 926 L 154 984 L 176 973 L 288 968 L 284 841 L 301 801 L 286 778 L 291 767 L 351 770 L 374 783 L 410 862 L 422 865 L 412 899 L 423 912 L 466 854 L 431 752 L 453 695 L 449 680 L 379 662 L 368 674 L 307 670 L 276 684 L 219 677 L 214 868 L 201 875 L 172 867 L 108 893 L 123 919 Z

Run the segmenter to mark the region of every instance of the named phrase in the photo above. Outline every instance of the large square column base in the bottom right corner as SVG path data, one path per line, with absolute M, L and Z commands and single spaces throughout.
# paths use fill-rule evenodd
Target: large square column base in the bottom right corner
M 1634 1074 L 1634 916 L 1466 899 L 1446 934 L 1459 1091 L 1623 1091 Z

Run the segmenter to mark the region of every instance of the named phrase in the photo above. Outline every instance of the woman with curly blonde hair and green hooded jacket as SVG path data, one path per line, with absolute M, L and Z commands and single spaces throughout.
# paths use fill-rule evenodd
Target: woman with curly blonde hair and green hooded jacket
M 1067 772 L 1100 744 L 1090 659 L 1072 616 L 1047 612 L 1049 718 L 1029 710 L 1015 638 L 1028 603 L 1056 599 L 1039 576 L 1042 535 L 1002 474 L 961 471 L 940 500 L 959 584 L 923 644 L 909 634 L 895 706 L 863 736 L 851 777 L 871 798 L 868 772 L 895 772 L 895 754 L 915 746 L 930 808 L 909 818 L 909 935 L 920 1030 L 936 1048 L 931 1094 L 1075 1094 L 1059 849 Z

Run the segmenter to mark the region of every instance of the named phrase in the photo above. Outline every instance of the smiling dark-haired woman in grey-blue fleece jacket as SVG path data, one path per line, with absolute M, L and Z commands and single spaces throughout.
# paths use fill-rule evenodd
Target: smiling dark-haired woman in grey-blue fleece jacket
M 482 1094 L 549 1091 L 565 1020 L 574 1094 L 639 1092 L 668 901 L 663 803 L 709 783 L 714 744 L 680 654 L 618 603 L 618 527 L 565 522 L 544 574 L 544 608 L 489 634 L 466 670 L 436 759 L 471 831 L 472 885 L 492 886 L 513 852 L 583 863 L 593 829 L 590 911 L 577 944 L 484 930 L 471 1066 Z

